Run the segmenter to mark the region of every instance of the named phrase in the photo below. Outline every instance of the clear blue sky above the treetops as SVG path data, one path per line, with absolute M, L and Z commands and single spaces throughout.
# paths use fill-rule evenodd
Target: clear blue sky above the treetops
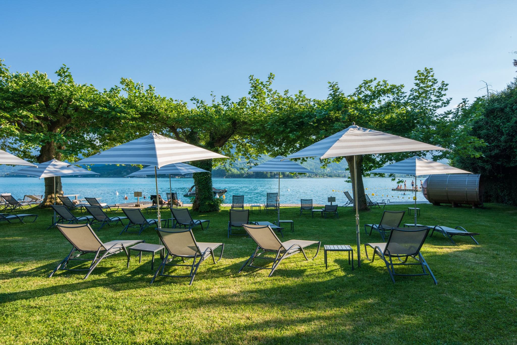
M 5 1 L 0 58 L 13 70 L 109 88 L 121 77 L 188 100 L 244 96 L 248 76 L 325 98 L 433 67 L 454 103 L 517 76 L 517 1 Z M 52 76 L 54 77 L 54 76 Z

